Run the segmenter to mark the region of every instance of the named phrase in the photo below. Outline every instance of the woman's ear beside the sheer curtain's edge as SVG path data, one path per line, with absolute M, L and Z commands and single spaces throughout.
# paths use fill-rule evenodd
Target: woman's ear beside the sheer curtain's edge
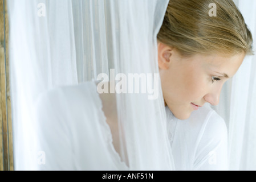
M 168 69 L 170 65 L 170 56 L 172 55 L 172 48 L 159 42 L 158 48 L 158 63 L 160 69 Z

